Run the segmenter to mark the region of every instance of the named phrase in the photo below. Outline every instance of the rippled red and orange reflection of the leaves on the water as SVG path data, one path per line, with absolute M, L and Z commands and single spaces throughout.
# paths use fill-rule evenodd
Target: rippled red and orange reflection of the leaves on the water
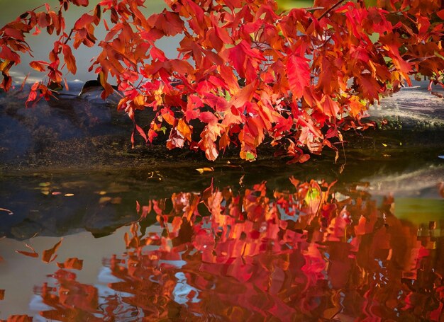
M 106 260 L 115 294 L 99 306 L 95 287 L 59 270 L 41 294 L 45 318 L 94 321 L 144 318 L 233 321 L 441 321 L 442 237 L 416 236 L 367 192 L 291 178 L 294 192 L 265 183 L 235 193 L 213 184 L 202 193 L 151 200 L 125 235 L 127 253 Z M 350 197 L 346 197 L 350 195 Z M 157 218 L 162 234 L 143 233 Z M 71 264 L 65 262 L 65 268 Z M 74 266 L 74 264 L 72 264 Z M 98 320 L 99 321 L 99 320 Z

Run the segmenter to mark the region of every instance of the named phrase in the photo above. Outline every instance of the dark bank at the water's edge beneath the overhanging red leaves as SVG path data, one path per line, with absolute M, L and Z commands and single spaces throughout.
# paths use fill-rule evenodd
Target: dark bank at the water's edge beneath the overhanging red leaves
M 444 154 L 444 99 L 429 93 L 426 86 L 425 82 L 416 83 L 413 88 L 383 98 L 381 105 L 370 110 L 368 118 L 378 125 L 376 129 L 344 132 L 345 144 L 339 146 L 343 151 L 338 163 L 345 163 L 346 159 L 404 157 L 428 161 Z M 40 100 L 33 108 L 24 107 L 26 91 L 1 94 L 0 171 L 109 171 L 248 164 L 239 159 L 235 148 L 227 149 L 215 162 L 207 161 L 201 151 L 170 151 L 162 142 L 146 146 L 137 135 L 132 148 L 132 123 L 116 111 L 118 98 L 103 101 L 99 91 L 76 96 L 81 87 L 81 83 L 71 84 L 67 95 L 50 102 Z M 140 120 L 140 124 L 148 124 L 148 120 Z M 274 157 L 274 152 L 275 149 L 262 144 L 256 163 L 280 165 L 289 160 Z M 333 166 L 335 154 L 324 149 L 322 156 L 311 159 Z

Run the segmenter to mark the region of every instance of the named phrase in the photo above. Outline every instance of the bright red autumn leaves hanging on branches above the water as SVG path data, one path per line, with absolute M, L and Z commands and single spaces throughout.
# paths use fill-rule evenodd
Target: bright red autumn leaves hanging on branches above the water
M 103 97 L 113 91 L 108 75 L 116 78 L 124 94 L 118 109 L 134 122 L 135 110 L 155 112 L 148 133 L 135 124 L 145 142 L 167 126 L 169 149 L 189 146 L 214 160 L 234 144 L 252 161 L 270 138 L 304 162 L 301 148 L 320 154 L 323 146 L 335 149 L 330 140 L 342 140 L 344 125 L 368 127 L 359 122 L 368 105 L 412 74 L 443 85 L 441 1 L 378 0 L 373 7 L 316 0 L 314 8 L 277 13 L 274 0 L 168 0 L 168 9 L 148 18 L 139 10 L 143 2 L 101 1 L 69 34 L 63 11 L 87 0 L 60 0 L 57 13 L 49 7 L 23 13 L 0 29 L 1 88 L 11 87 L 17 52 L 30 52 L 27 33 L 46 28 L 60 35 L 50 61 L 31 67 L 47 72 L 48 84 L 61 84 L 60 54 L 75 73 L 71 47 L 95 45 L 94 28 L 104 23 L 109 31 L 90 69 L 99 74 Z M 170 59 L 155 41 L 173 35 L 182 41 Z M 50 98 L 47 86 L 34 87 L 28 101 Z

